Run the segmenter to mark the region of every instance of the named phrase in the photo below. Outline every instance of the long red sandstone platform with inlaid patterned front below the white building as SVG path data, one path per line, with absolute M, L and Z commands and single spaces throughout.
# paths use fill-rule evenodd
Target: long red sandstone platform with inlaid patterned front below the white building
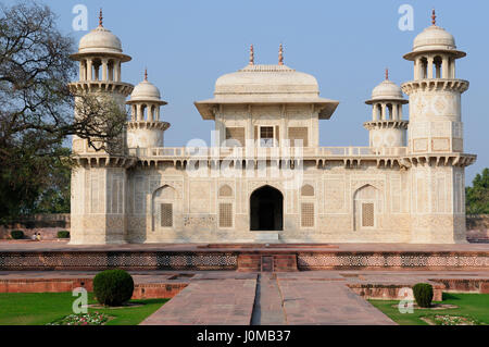
M 489 244 L 127 244 L 0 241 L 0 271 L 488 270 Z

